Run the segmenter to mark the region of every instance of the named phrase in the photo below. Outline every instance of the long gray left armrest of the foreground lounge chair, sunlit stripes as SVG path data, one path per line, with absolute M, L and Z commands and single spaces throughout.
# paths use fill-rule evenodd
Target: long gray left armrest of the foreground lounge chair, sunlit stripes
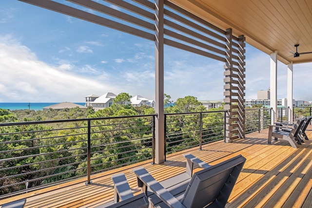
M 185 208 L 176 197 L 161 186 L 156 179 L 144 168 L 137 168 L 133 170 L 137 175 L 137 186 L 142 187 L 145 193 L 147 188 L 151 189 L 166 205 L 170 208 Z M 145 189 L 145 190 L 144 190 Z

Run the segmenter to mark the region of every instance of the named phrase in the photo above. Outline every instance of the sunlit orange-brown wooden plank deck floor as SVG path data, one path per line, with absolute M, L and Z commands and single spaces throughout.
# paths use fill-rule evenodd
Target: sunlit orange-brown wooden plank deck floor
M 309 126 L 312 130 L 312 126 Z M 307 131 L 312 138 L 312 131 Z M 144 166 L 158 181 L 185 171 L 182 156 L 191 152 L 209 164 L 216 164 L 242 154 L 246 163 L 234 186 L 227 208 L 290 208 L 312 207 L 312 139 L 293 149 L 286 141 L 267 144 L 268 130 L 246 135 L 233 143 L 214 142 L 202 151 L 190 149 L 167 156 L 160 165 L 149 162 L 98 174 L 93 184 L 85 186 L 85 179 L 41 189 L 0 201 L 0 205 L 27 198 L 25 208 L 92 208 L 113 199 L 111 175 L 124 172 L 133 191 L 139 191 L 131 171 Z

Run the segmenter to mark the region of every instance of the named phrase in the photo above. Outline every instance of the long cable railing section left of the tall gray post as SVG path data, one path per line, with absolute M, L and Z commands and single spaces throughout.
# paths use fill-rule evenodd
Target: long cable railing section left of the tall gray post
M 155 116 L 0 123 L 0 198 L 154 161 Z

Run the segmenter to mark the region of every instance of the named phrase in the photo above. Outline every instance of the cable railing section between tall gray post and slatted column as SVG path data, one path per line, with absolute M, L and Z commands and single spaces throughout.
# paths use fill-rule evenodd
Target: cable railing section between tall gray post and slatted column
M 225 111 L 165 114 L 166 154 L 224 139 Z

